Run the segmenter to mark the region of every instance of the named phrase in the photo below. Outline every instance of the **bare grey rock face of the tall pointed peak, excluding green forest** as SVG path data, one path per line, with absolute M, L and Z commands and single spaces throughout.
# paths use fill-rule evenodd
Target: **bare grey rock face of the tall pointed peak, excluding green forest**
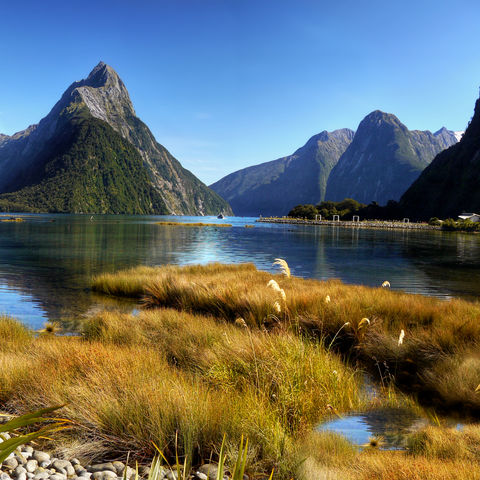
M 70 85 L 38 125 L 32 125 L 11 137 L 0 136 L 0 192 L 17 192 L 45 180 L 44 167 L 53 160 L 50 155 L 52 145 L 62 143 L 62 138 L 69 136 L 72 119 L 76 123 L 97 119 L 108 127 L 107 130 L 111 129 L 135 148 L 148 182 L 154 189 L 154 201 L 151 202 L 153 211 L 148 213 L 231 213 L 229 205 L 222 198 L 184 169 L 155 140 L 148 127 L 136 116 L 122 80 L 103 62 L 86 79 Z M 95 132 L 99 130 L 93 128 L 91 133 L 94 135 Z M 108 132 L 107 137 L 113 138 L 113 133 Z M 121 144 L 116 140 L 114 143 L 117 146 Z M 73 150 L 77 151 L 75 148 Z M 121 148 L 116 152 L 120 163 L 124 151 Z M 36 172 L 36 178 L 33 178 L 32 172 Z M 40 191 L 38 195 L 42 196 Z M 31 207 L 37 208 L 36 205 Z

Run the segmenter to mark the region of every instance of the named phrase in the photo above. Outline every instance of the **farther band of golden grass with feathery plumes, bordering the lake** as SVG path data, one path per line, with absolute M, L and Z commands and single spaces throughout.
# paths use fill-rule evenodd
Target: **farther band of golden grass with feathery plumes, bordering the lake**
M 267 287 L 271 279 L 279 289 Z M 272 275 L 251 264 L 139 267 L 97 276 L 93 288 L 141 298 L 151 308 L 170 307 L 228 322 L 240 317 L 251 328 L 287 326 L 359 359 L 382 381 L 394 381 L 424 402 L 434 398 L 437 408 L 461 405 L 465 413 L 480 416 L 480 395 L 474 394 L 480 362 L 474 368 L 471 353 L 480 340 L 477 303 Z M 456 388 L 462 377 L 460 359 L 468 355 L 473 355 L 472 373 Z M 453 363 L 442 375 L 438 370 L 445 362 Z

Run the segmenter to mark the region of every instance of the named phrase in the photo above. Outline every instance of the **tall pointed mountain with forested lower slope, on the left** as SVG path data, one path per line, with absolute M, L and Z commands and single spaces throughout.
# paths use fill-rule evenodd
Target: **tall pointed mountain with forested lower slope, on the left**
M 0 193 L 4 210 L 231 214 L 155 140 L 103 62 L 37 125 L 0 135 Z

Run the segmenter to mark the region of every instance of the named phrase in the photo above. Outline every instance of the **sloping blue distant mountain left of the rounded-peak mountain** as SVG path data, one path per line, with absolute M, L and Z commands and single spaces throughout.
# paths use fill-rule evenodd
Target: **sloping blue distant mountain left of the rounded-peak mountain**
M 295 205 L 324 199 L 330 171 L 353 135 L 348 128 L 321 132 L 292 155 L 238 170 L 210 188 L 236 215 L 286 215 Z

